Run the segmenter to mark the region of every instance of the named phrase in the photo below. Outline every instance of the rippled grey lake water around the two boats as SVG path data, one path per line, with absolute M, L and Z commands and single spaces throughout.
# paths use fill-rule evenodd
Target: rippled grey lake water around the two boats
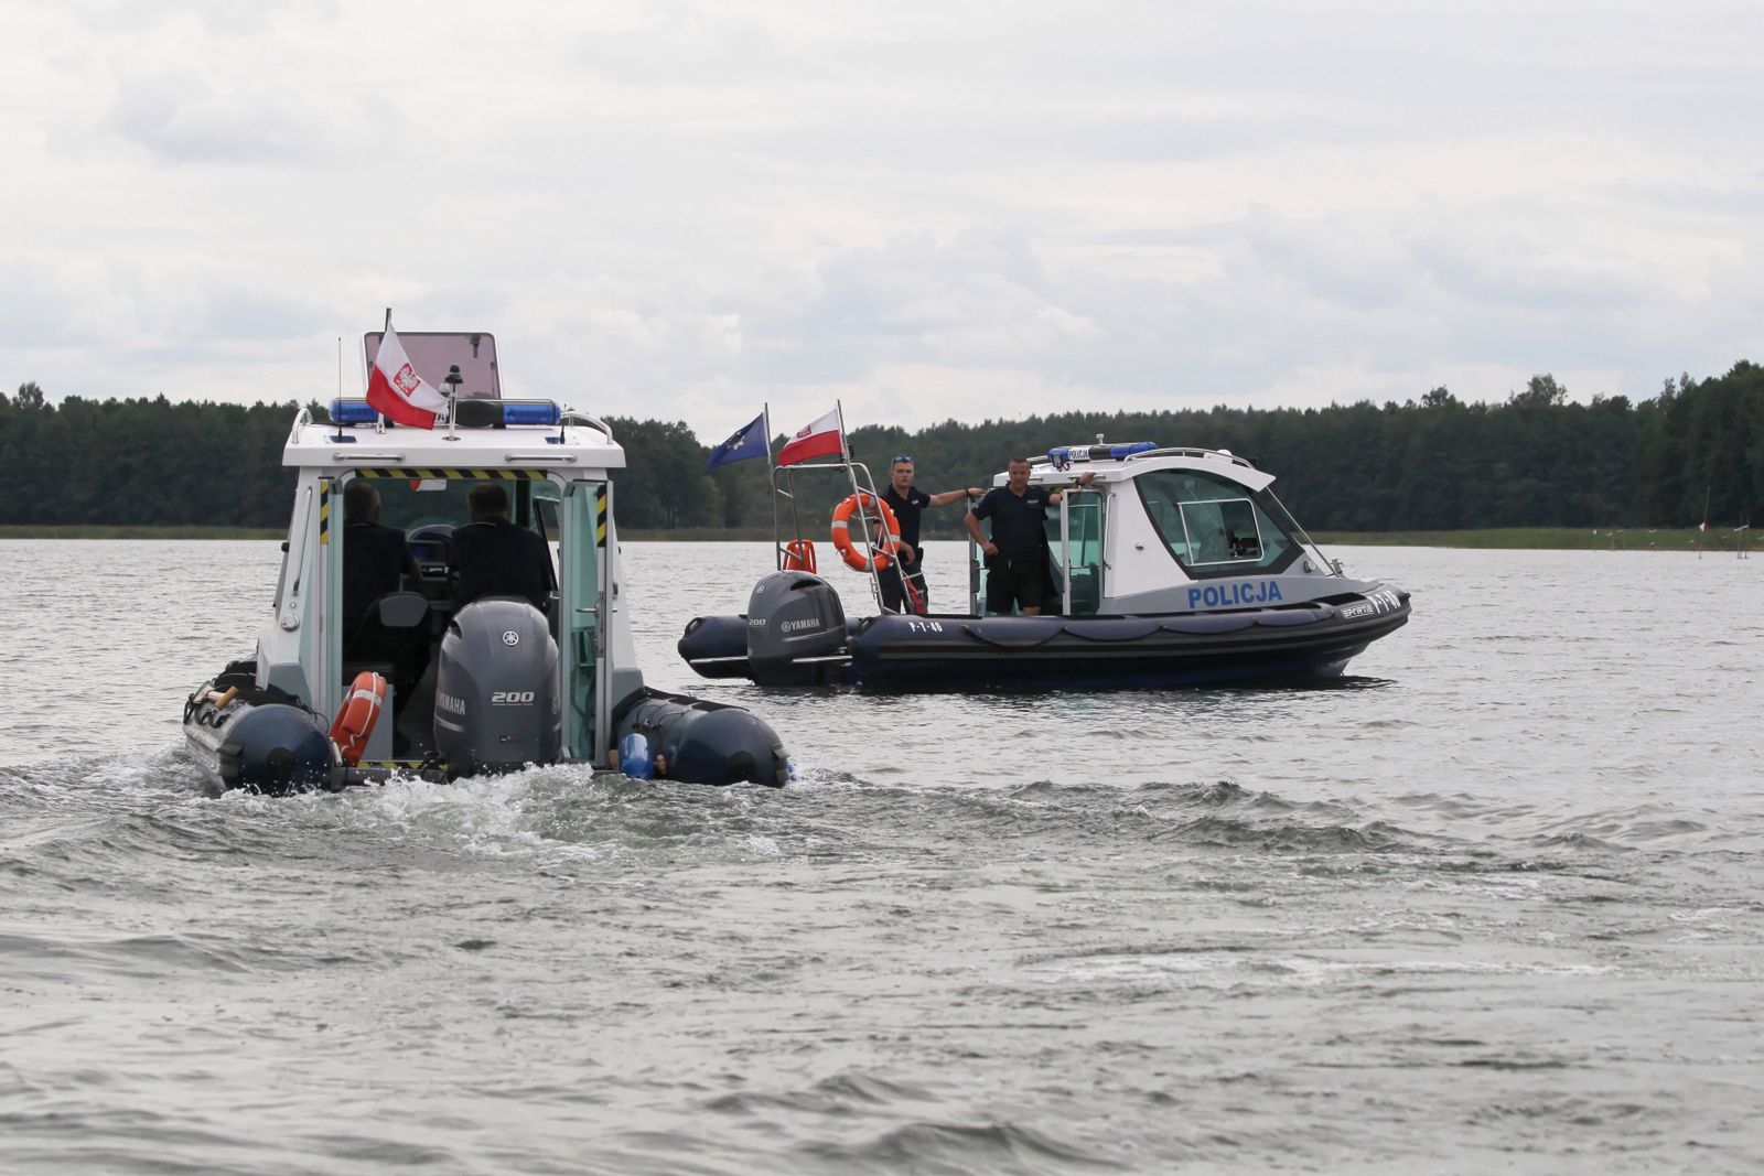
M 1328 689 L 870 698 L 679 663 L 767 545 L 624 554 L 797 783 L 215 797 L 277 545 L 0 541 L 0 1171 L 1764 1167 L 1764 559 L 1334 550 L 1415 621 Z

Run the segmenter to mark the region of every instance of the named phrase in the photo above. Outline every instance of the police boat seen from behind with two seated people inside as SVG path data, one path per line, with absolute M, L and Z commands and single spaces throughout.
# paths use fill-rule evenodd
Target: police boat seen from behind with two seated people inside
M 383 337 L 365 337 L 370 367 Z M 222 788 L 265 793 L 557 762 L 783 785 L 790 763 L 762 719 L 644 686 L 612 517 L 624 467 L 612 428 L 550 400 L 505 400 L 489 333 L 397 342 L 425 383 L 448 386 L 448 420 L 397 427 L 344 398 L 328 421 L 296 414 L 282 450 L 293 518 L 270 619 L 252 656 L 185 702 L 192 758 Z M 374 487 L 379 524 L 404 532 L 415 573 L 346 624 L 351 557 L 358 575 L 367 568 L 344 536 L 358 481 Z M 452 534 L 467 522 L 473 487 L 487 483 L 503 487 L 510 522 L 543 540 L 543 608 L 515 596 L 457 603 Z

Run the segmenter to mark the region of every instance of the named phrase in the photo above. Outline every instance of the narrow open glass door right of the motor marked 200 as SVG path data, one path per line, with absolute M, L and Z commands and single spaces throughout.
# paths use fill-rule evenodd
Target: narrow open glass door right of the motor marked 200
M 570 760 L 603 765 L 607 483 L 570 481 L 559 510 L 557 652 L 563 672 L 563 748 Z

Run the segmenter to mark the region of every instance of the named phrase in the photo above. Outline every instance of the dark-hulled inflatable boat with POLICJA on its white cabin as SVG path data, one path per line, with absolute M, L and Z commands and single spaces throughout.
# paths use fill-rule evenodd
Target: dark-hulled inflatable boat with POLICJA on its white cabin
M 1274 495 L 1274 476 L 1226 450 L 1099 437 L 1030 458 L 1028 481 L 1062 492 L 1039 615 L 986 612 L 990 573 L 970 541 L 968 612 L 847 617 L 813 545 L 792 540 L 748 610 L 695 617 L 679 652 L 704 677 L 762 686 L 1155 689 L 1335 677 L 1409 619 L 1408 592 L 1348 577 Z M 841 554 L 863 547 L 847 562 L 900 575 L 887 520 L 857 531 L 834 524 Z

